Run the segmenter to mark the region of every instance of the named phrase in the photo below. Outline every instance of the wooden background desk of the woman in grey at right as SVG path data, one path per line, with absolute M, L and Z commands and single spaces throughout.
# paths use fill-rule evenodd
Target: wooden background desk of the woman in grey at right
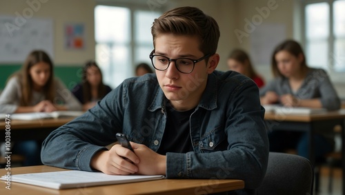
M 296 115 L 296 114 L 265 114 L 266 125 L 272 130 L 288 130 L 308 133 L 309 142 L 309 160 L 315 163 L 315 150 L 313 136 L 316 132 L 333 131 L 335 125 L 342 127 L 342 194 L 345 195 L 345 109 L 311 115 Z

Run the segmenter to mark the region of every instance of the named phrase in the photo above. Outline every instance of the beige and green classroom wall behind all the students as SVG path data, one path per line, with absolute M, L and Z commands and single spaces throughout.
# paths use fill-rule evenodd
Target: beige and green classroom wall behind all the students
M 72 86 L 73 82 L 80 81 L 80 75 L 77 70 L 88 59 L 95 59 L 95 24 L 94 24 L 94 8 L 97 2 L 101 3 L 136 3 L 137 0 L 16 0 L 16 1 L 1 1 L 0 13 L 10 14 L 15 16 L 15 12 L 23 12 L 28 8 L 27 1 L 39 1 L 41 8 L 34 12 L 34 17 L 51 18 L 54 21 L 54 52 L 55 57 L 53 61 L 56 66 L 56 75 L 63 77 L 63 82 Z M 221 59 L 218 65 L 219 70 L 228 70 L 226 66 L 226 58 L 228 53 L 233 48 L 242 48 L 250 51 L 250 34 L 249 37 L 242 39 L 240 43 L 235 35 L 236 29 L 243 30 L 246 25 L 245 19 L 251 19 L 255 14 L 258 14 L 257 8 L 267 7 L 269 3 L 275 3 L 277 8 L 270 10 L 268 17 L 263 19 L 262 23 L 282 23 L 286 26 L 286 38 L 293 38 L 299 41 L 301 34 L 299 34 L 299 25 L 294 23 L 294 20 L 299 19 L 299 10 L 296 9 L 299 0 L 284 1 L 284 0 L 166 0 L 155 1 L 160 3 L 159 6 L 169 10 L 178 6 L 196 6 L 204 10 L 206 14 L 214 17 L 221 30 L 221 37 L 219 39 L 219 46 L 217 52 Z M 141 4 L 143 4 L 140 1 Z M 144 6 L 148 6 L 148 1 L 145 1 Z M 150 1 L 151 2 L 151 1 Z M 86 48 L 80 51 L 66 50 L 63 46 L 63 25 L 67 22 L 85 23 L 86 27 Z M 7 74 L 17 70 L 22 62 L 14 64 L 0 64 L 0 90 L 4 86 L 7 79 Z M 13 66 L 12 66 L 13 65 Z M 266 81 L 272 79 L 269 64 L 257 64 L 255 66 L 259 74 L 262 74 Z M 70 73 L 70 79 L 66 77 L 66 72 Z M 345 97 L 345 84 L 335 83 L 337 92 L 343 98 Z

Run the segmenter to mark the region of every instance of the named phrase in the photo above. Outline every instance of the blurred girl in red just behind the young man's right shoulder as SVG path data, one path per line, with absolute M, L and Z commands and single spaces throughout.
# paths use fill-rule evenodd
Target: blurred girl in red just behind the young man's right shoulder
M 244 50 L 233 50 L 228 56 L 227 63 L 230 70 L 244 74 L 257 83 L 259 88 L 265 85 L 264 79 L 255 72 L 249 56 Z

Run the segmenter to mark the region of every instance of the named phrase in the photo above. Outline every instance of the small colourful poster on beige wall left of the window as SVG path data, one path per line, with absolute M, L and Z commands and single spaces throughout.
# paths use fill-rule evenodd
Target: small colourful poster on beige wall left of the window
M 66 23 L 64 31 L 67 50 L 85 49 L 85 25 L 83 23 Z

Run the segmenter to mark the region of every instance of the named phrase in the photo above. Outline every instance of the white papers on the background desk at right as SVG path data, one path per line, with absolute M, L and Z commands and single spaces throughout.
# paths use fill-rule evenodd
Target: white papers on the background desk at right
M 275 114 L 316 114 L 327 112 L 325 108 L 311 108 L 311 107 L 285 107 L 282 105 L 262 105 L 267 113 Z

